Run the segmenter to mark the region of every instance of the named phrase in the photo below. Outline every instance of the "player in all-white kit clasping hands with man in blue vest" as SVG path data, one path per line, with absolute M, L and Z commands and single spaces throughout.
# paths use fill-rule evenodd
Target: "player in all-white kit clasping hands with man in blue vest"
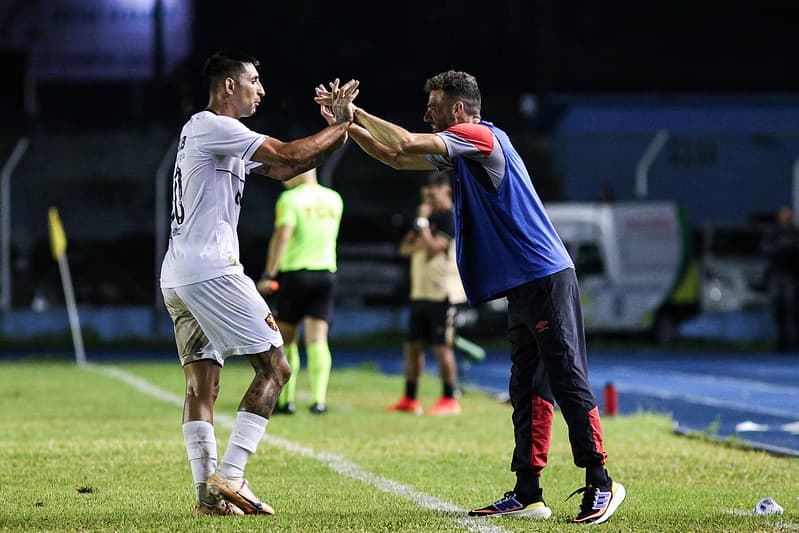
M 180 133 L 172 181 L 169 248 L 161 267 L 164 304 L 186 377 L 183 436 L 197 492 L 195 515 L 274 514 L 244 479 L 291 369 L 269 306 L 244 274 L 236 228 L 250 171 L 285 181 L 315 168 L 346 141 L 356 81 L 327 109 L 335 119 L 314 135 L 283 142 L 239 119 L 265 91 L 248 56 L 217 52 L 205 64 L 208 106 Z M 328 120 L 330 122 L 330 120 Z M 217 465 L 214 403 L 225 358 L 246 356 L 255 376 Z

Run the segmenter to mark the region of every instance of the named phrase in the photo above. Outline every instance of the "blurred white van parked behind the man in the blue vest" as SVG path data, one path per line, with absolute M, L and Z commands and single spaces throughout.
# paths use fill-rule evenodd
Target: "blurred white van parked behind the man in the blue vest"
M 585 329 L 676 335 L 696 313 L 690 232 L 671 202 L 550 203 L 546 211 L 574 261 Z

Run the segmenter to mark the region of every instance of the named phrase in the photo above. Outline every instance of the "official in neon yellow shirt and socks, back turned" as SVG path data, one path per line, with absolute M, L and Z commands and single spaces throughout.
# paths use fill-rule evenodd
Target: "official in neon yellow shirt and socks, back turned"
M 327 385 L 332 359 L 328 329 L 336 288 L 336 239 L 343 202 L 334 190 L 319 184 L 316 170 L 286 182 L 277 199 L 275 229 L 269 241 L 264 274 L 257 283 L 263 295 L 274 293 L 270 307 L 285 341 L 291 378 L 278 399 L 275 413 L 293 414 L 300 370 L 302 323 L 311 382 L 313 414 L 327 411 Z M 277 282 L 277 284 L 275 283 Z M 279 287 L 274 292 L 275 287 Z

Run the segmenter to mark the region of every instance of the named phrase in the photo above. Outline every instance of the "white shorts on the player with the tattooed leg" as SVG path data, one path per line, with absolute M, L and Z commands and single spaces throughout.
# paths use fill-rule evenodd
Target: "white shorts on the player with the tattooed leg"
M 272 311 L 245 274 L 162 288 L 180 363 L 255 355 L 283 345 Z

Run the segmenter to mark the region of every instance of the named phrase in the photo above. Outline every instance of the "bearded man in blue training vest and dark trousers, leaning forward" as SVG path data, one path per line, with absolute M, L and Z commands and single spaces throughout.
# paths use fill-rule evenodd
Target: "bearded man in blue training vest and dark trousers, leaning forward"
M 332 121 L 331 89 L 316 89 Z M 580 291 L 572 261 L 507 134 L 480 117 L 474 76 L 447 71 L 428 79 L 424 120 L 433 133 L 408 130 L 353 106 L 350 136 L 370 156 L 398 170 L 454 170 L 458 269 L 471 305 L 507 297 L 510 399 L 516 484 L 471 516 L 547 519 L 540 486 L 555 402 L 569 427 L 574 463 L 585 468 L 574 522 L 608 520 L 625 497 L 605 469 L 607 454 L 588 381 Z M 352 105 L 352 104 L 351 104 Z

